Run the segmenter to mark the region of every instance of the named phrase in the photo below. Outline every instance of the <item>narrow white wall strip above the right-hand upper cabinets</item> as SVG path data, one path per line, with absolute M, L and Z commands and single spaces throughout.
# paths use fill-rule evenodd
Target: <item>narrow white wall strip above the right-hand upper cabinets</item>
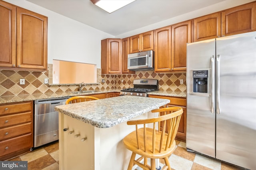
M 191 20 L 193 18 L 197 18 L 197 17 L 204 16 L 204 15 L 207 15 L 207 14 L 212 14 L 214 12 L 222 11 L 222 10 L 225 10 L 225 9 L 228 9 L 228 8 L 232 8 L 232 7 L 239 6 L 239 5 L 246 4 L 246 3 L 249 3 L 249 2 L 253 2 L 253 1 L 255 1 L 255 0 L 225 0 L 225 1 L 220 2 L 218 4 L 214 4 L 212 6 L 202 8 L 200 10 L 192 11 L 192 12 L 174 17 L 174 18 L 170 18 L 168 20 L 164 20 L 164 21 L 161 21 L 161 22 L 158 22 L 158 23 L 148 25 L 146 27 L 142 27 L 142 28 L 139 28 L 139 29 L 129 31 L 127 33 L 117 35 L 116 38 L 130 37 L 132 35 L 136 35 L 136 34 L 139 34 L 139 33 L 144 33 L 146 31 L 158 29 L 158 28 L 165 27 L 165 26 L 168 26 L 168 25 L 172 25 L 172 24 L 175 24 L 175 23 L 179 23 L 179 22 L 182 22 L 182 21 Z

